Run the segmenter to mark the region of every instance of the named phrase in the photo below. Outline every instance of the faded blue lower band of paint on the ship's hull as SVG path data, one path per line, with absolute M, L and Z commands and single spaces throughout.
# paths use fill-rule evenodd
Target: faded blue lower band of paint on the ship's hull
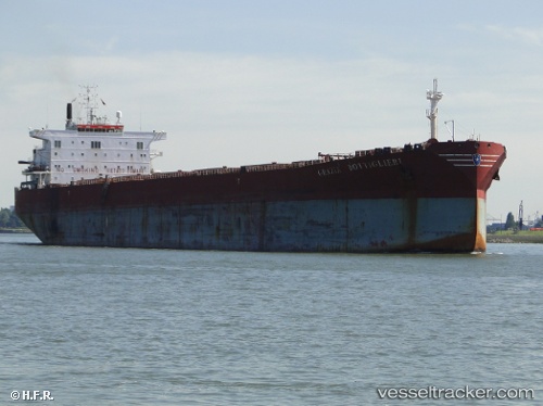
M 45 243 L 62 245 L 466 252 L 481 204 L 476 198 L 243 202 L 56 212 L 29 220 Z

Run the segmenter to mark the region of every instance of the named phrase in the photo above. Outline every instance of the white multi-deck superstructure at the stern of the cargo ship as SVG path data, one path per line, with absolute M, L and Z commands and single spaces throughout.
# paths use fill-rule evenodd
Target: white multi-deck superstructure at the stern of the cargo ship
M 161 152 L 151 150 L 151 143 L 166 139 L 164 131 L 125 131 L 121 124 L 109 124 L 106 117 L 96 115 L 97 96 L 93 87 L 85 87 L 81 105 L 86 119 L 72 119 L 72 103 L 67 105 L 66 128 L 33 129 L 30 137 L 42 141 L 34 149 L 31 161 L 23 170 L 27 188 L 42 188 L 46 185 L 70 183 L 83 179 L 151 174 L 151 160 Z M 102 101 L 103 103 L 103 101 Z

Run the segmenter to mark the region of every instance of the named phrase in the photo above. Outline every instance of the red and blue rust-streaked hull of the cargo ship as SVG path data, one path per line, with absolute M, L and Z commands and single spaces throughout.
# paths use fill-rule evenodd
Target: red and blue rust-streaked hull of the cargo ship
M 502 145 L 485 147 L 479 151 L 479 142 L 438 143 L 424 151 L 300 167 L 242 167 L 16 190 L 15 207 L 46 244 L 484 251 L 485 192 L 505 158 Z M 465 164 L 463 156 L 480 152 L 492 156 L 488 165 Z

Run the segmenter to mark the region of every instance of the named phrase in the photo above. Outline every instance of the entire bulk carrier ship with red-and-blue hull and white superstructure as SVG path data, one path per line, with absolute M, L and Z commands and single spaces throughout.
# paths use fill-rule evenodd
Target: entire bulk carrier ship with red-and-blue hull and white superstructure
M 64 130 L 20 161 L 15 211 L 45 244 L 280 252 L 482 252 L 487 191 L 504 145 L 431 137 L 316 160 L 153 173 L 162 131 L 125 131 L 97 115 L 96 87 L 67 104 Z M 83 115 L 83 114 L 81 114 Z

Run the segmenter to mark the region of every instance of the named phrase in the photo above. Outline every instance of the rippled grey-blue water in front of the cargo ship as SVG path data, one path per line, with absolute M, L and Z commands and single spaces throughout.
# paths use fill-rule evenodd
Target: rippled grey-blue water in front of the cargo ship
M 542 264 L 0 234 L 0 404 L 538 404 Z

